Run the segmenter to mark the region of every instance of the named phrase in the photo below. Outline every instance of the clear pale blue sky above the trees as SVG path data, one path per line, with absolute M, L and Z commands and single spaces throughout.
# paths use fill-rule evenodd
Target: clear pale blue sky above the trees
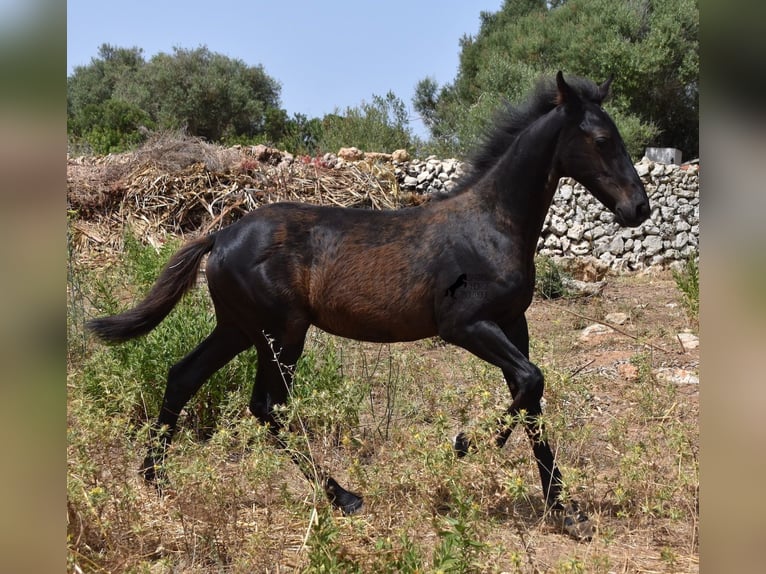
M 479 13 L 502 0 L 70 0 L 67 75 L 101 44 L 143 48 L 148 60 L 174 46 L 263 65 L 281 85 L 289 114 L 322 117 L 392 90 L 412 112 L 417 82 L 440 85 L 457 73 L 459 41 L 476 35 Z

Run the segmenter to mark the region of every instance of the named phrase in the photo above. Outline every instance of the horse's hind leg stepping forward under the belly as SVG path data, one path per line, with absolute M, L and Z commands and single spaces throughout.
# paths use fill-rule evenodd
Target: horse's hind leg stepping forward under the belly
M 250 400 L 250 411 L 266 424 L 280 448 L 286 450 L 301 473 L 310 482 L 318 482 L 333 506 L 345 514 L 353 514 L 362 507 L 362 498 L 344 489 L 329 474 L 320 469 L 307 449 L 289 447 L 280 436 L 284 423 L 275 416 L 275 407 L 289 400 L 293 372 L 303 352 L 303 339 L 293 345 L 280 345 L 276 340 L 264 340 L 258 349 L 258 373 Z

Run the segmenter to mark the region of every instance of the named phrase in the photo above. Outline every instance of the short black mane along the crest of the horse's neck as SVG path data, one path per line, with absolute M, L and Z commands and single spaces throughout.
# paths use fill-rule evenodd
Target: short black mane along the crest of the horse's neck
M 602 101 L 599 87 L 591 80 L 569 76 L 566 81 L 583 100 L 596 103 Z M 464 168 L 465 175 L 443 197 L 457 195 L 475 185 L 503 157 L 521 132 L 556 107 L 557 96 L 555 78 L 544 78 L 521 106 L 514 107 L 506 102 L 495 113 L 479 145 L 469 154 Z

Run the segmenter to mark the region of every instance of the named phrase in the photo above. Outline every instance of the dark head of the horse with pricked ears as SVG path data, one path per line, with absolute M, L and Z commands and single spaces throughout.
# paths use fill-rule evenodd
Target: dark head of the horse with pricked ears
M 557 150 L 559 173 L 584 185 L 621 225 L 636 227 L 651 213 L 649 198 L 617 127 L 601 107 L 611 82 L 588 97 L 556 74 L 557 103 L 566 117 Z

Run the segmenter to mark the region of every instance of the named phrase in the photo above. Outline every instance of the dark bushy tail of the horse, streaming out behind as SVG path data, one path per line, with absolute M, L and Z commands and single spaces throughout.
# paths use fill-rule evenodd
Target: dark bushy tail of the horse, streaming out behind
M 118 315 L 88 321 L 86 328 L 109 343 L 121 343 L 147 334 L 194 287 L 202 258 L 214 244 L 215 234 L 187 243 L 170 258 L 143 301 Z

